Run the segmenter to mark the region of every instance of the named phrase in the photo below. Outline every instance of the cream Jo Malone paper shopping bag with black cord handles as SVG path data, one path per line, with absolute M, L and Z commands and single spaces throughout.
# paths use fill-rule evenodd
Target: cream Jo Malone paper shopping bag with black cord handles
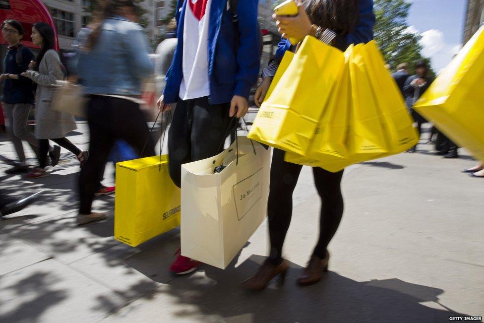
M 270 157 L 240 136 L 238 149 L 234 142 L 217 156 L 182 165 L 183 256 L 227 267 L 267 215 Z

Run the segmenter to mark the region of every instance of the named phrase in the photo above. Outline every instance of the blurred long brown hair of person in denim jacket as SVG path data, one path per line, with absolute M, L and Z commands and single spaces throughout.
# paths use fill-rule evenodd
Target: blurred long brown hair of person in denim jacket
M 101 34 L 104 19 L 117 14 L 121 7 L 130 7 L 136 10 L 134 0 L 106 0 L 99 6 L 94 15 L 93 22 L 89 25 L 91 33 L 84 45 L 84 50 L 90 51 L 96 45 Z

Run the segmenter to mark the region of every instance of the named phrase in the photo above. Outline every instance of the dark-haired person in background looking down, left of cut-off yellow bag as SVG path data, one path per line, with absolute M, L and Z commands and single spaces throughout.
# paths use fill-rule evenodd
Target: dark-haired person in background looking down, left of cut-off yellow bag
M 419 136 L 422 135 L 422 125 L 427 123 L 427 120 L 414 110 L 414 104 L 425 93 L 432 83 L 432 78 L 428 75 L 428 65 L 425 61 L 420 61 L 415 64 L 415 75 L 407 78 L 403 88 L 405 101 L 407 107 L 412 113 L 414 121 L 417 123 L 417 131 Z M 416 152 L 417 145 L 410 148 L 408 152 Z

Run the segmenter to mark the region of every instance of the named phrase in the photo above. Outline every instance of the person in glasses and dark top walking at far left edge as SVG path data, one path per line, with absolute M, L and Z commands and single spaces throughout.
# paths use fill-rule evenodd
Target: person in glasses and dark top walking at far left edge
M 3 59 L 3 71 L 0 82 L 3 82 L 1 96 L 2 107 L 5 112 L 5 125 L 10 141 L 12 141 L 18 156 L 18 163 L 6 174 L 28 172 L 22 140 L 27 141 L 39 156 L 39 142 L 34 133 L 27 129 L 27 121 L 34 103 L 34 89 L 32 81 L 21 74 L 25 72 L 34 55 L 20 41 L 24 35 L 22 24 L 16 20 L 5 20 L 1 24 L 3 38 L 8 43 L 8 50 Z M 57 163 L 60 158 L 60 147 L 51 149 L 51 159 Z

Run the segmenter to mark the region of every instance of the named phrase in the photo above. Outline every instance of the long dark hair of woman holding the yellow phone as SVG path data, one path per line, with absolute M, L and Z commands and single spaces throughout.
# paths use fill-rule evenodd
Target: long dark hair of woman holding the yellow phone
M 358 22 L 358 0 L 303 0 L 313 24 L 341 35 L 349 34 Z

